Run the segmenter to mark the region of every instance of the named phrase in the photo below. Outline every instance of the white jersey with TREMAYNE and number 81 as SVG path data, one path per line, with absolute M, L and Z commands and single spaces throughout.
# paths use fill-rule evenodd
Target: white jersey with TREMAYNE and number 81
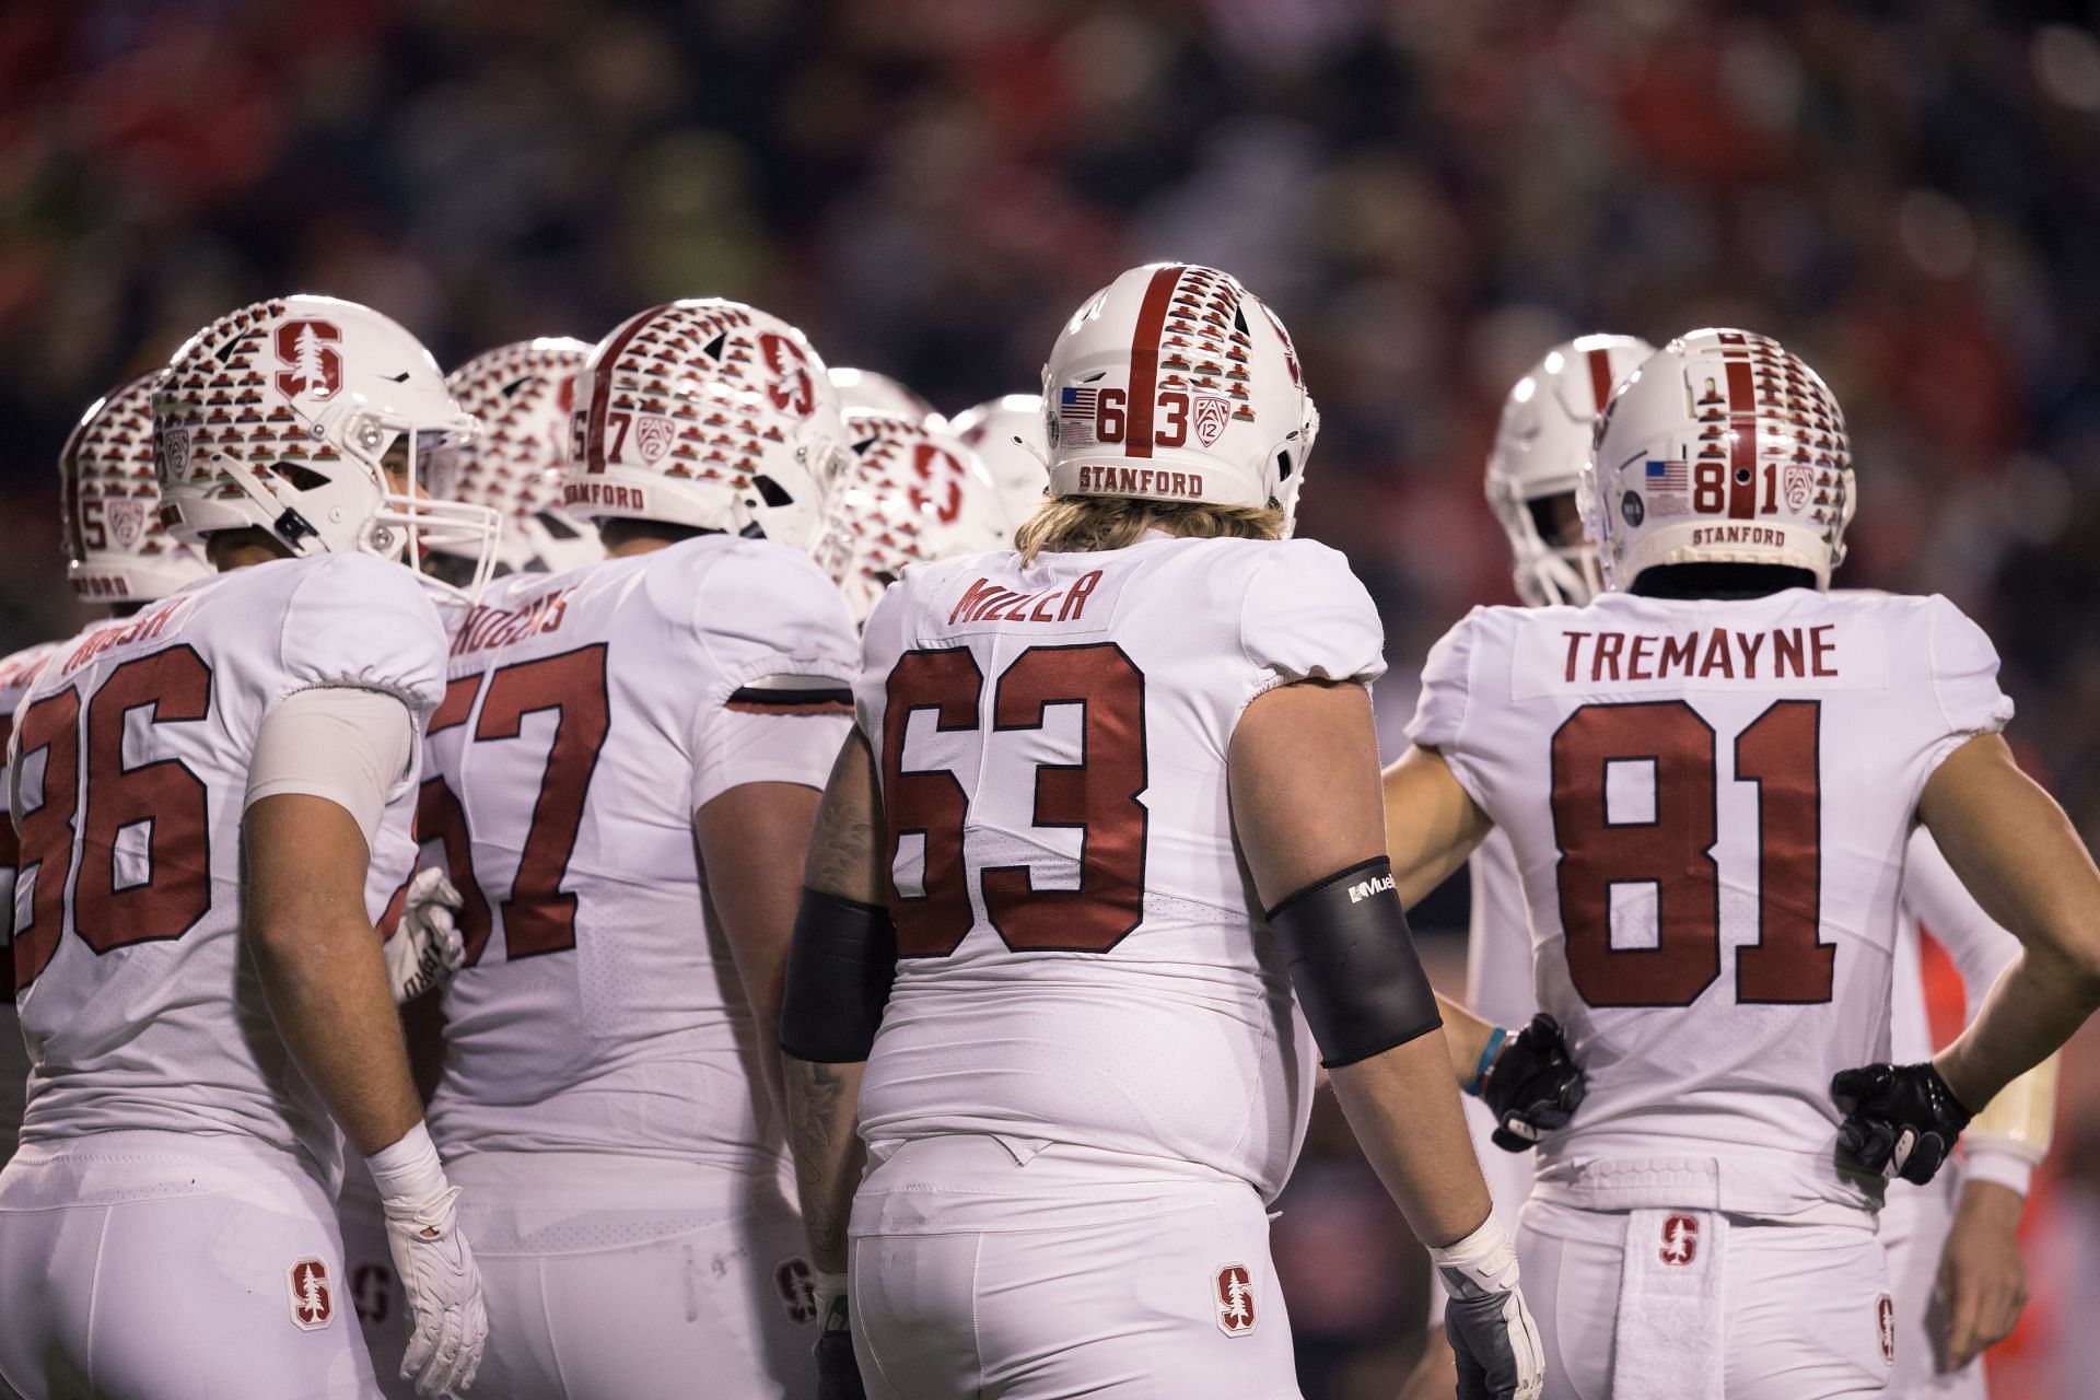
M 1476 609 L 1409 737 L 1508 831 L 1539 1005 L 1590 1096 L 1539 1190 L 1588 1207 L 1869 1207 L 1842 1068 L 1888 1058 L 1898 884 L 1938 762 L 2003 728 L 1945 598 L 1604 594 Z

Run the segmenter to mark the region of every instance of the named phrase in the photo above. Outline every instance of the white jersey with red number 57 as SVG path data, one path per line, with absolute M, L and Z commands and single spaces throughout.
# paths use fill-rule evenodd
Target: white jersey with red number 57
M 693 812 L 743 783 L 823 787 L 857 665 L 838 588 L 733 535 L 510 575 L 458 625 L 418 827 L 466 896 L 430 1102 L 445 1157 L 777 1167 Z

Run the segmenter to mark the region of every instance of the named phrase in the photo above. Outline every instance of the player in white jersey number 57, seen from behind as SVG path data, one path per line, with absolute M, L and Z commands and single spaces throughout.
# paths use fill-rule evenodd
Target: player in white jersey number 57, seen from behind
M 859 659 L 806 554 L 838 399 L 796 327 L 682 300 L 573 405 L 563 502 L 607 558 L 498 579 L 454 634 L 420 808 L 462 894 L 430 1131 L 470 1192 L 481 1383 L 802 1396 L 775 1024 Z

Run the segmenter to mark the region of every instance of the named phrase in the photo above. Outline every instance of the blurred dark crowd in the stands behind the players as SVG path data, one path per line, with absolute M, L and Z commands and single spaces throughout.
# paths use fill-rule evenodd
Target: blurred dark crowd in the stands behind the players
M 1548 344 L 1781 336 L 1852 426 L 1848 586 L 1945 592 L 2100 835 L 2096 4 L 1875 0 L 164 0 L 0 4 L 0 651 L 76 628 L 52 460 L 103 388 L 267 294 L 447 365 L 737 296 L 953 411 L 1033 390 L 1119 269 L 1292 325 L 1300 529 L 1428 644 L 1512 600 L 1480 500 Z M 1443 898 L 1424 924 L 1462 926 Z M 1455 940 L 1441 955 L 1455 970 Z M 2094 1394 L 2100 1043 L 2031 1211 L 1997 1394 Z M 1418 1280 L 1346 1131 L 1279 1224 L 1315 1400 L 1390 1396 Z M 2081 1381 L 2083 1377 L 2083 1381 Z

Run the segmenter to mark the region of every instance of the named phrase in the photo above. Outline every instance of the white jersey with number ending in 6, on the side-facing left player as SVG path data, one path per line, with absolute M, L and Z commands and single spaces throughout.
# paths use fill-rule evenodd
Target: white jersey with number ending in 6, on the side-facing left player
M 23 1142 L 248 1133 L 334 1169 L 334 1123 L 239 947 L 248 762 L 296 691 L 384 691 L 420 722 L 443 665 L 416 577 L 365 554 L 202 579 L 52 655 L 17 712 L 10 772 Z M 414 796 L 412 764 L 372 842 L 374 919 L 414 863 Z

